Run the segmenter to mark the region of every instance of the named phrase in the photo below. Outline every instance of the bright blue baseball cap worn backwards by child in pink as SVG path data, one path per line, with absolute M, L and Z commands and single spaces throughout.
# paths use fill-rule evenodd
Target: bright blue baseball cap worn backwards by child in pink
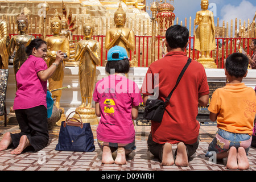
M 129 59 L 125 48 L 121 46 L 114 46 L 109 49 L 108 61 L 119 61 L 123 59 Z

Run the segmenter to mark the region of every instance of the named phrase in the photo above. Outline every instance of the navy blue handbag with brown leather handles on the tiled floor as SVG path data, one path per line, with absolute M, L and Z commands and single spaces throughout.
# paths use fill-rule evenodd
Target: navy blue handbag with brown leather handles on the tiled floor
M 77 113 L 76 111 L 73 112 Z M 77 114 L 79 115 L 79 113 Z M 95 146 L 90 123 L 82 123 L 80 115 L 81 121 L 76 118 L 69 118 L 69 115 L 65 121 L 61 122 L 59 142 L 55 150 L 77 152 L 94 151 Z

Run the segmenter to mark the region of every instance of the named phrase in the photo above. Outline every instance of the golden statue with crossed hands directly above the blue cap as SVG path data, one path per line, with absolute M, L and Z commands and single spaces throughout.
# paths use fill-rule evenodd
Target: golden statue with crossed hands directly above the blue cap
M 135 35 L 134 31 L 125 27 L 126 13 L 122 9 L 121 2 L 117 11 L 114 13 L 115 28 L 111 28 L 106 32 L 105 45 L 109 50 L 114 46 L 121 46 L 126 49 L 127 55 L 130 55 L 130 51 L 135 50 Z

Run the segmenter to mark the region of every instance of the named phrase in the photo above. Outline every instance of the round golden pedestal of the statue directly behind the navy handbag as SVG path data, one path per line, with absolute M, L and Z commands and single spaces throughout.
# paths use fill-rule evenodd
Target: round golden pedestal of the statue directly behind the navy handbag
M 90 125 L 98 125 L 99 119 L 95 114 L 95 108 L 88 107 L 77 107 L 77 113 L 79 113 L 83 123 L 90 123 Z M 74 114 L 73 118 L 79 119 L 78 114 Z

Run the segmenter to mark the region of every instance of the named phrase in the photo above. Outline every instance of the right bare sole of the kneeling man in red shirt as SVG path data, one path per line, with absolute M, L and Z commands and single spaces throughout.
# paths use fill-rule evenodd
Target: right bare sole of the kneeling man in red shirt
M 187 147 L 183 142 L 177 144 L 176 166 L 188 166 Z

